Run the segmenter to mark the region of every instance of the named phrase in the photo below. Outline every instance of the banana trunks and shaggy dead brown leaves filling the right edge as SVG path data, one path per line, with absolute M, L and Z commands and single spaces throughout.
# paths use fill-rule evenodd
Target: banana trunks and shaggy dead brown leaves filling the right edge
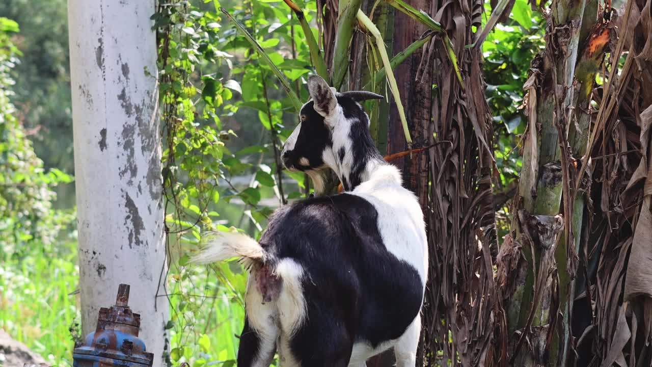
M 652 318 L 646 308 L 652 223 L 644 189 L 650 169 L 649 3 L 629 1 L 615 20 L 595 22 L 585 11 L 581 26 L 572 17 L 560 24 L 553 11 L 546 50 L 533 60 L 515 204 L 527 215 L 560 215 L 563 233 L 551 259 L 548 247 L 533 245 L 520 215 L 501 249 L 498 279 L 509 332 L 518 336 L 510 348 L 514 364 L 650 364 L 644 331 Z M 563 12 L 568 16 L 576 5 Z M 564 63 L 573 34 L 580 36 L 577 61 Z M 601 67 L 606 52 L 610 57 Z M 596 74 L 604 78 L 601 86 Z

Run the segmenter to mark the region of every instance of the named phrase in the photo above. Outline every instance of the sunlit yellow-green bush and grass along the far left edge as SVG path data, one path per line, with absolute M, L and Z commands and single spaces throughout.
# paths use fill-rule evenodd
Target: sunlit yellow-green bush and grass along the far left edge
M 65 336 L 78 305 L 68 293 L 78 270 L 74 237 L 59 237 L 73 214 L 52 208 L 53 187 L 72 178 L 44 170 L 16 119 L 9 76 L 20 54 L 10 40 L 16 32 L 16 22 L 0 17 L 0 327 L 59 364 L 72 353 Z

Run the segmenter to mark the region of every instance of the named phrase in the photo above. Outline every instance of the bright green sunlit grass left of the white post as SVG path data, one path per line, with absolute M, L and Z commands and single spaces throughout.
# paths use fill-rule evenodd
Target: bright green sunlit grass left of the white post
M 6 254 L 0 264 L 0 327 L 48 364 L 72 366 L 68 329 L 80 319 L 79 297 L 69 295 L 78 284 L 76 243 L 31 246 L 26 255 Z

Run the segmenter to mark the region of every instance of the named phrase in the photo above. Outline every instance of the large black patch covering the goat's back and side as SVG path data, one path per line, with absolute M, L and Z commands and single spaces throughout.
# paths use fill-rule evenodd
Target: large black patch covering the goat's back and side
M 315 329 L 325 325 L 375 348 L 400 337 L 419 313 L 422 279 L 387 250 L 378 212 L 362 197 L 344 193 L 280 208 L 259 243 L 271 263 L 291 259 L 304 270 L 307 315 L 293 349 L 315 347 L 312 336 L 323 332 Z

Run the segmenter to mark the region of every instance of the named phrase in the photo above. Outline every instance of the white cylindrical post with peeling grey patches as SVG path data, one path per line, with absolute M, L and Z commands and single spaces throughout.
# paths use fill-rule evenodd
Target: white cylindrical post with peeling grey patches
M 131 285 L 140 337 L 162 365 L 161 142 L 154 0 L 68 0 L 82 328 Z

